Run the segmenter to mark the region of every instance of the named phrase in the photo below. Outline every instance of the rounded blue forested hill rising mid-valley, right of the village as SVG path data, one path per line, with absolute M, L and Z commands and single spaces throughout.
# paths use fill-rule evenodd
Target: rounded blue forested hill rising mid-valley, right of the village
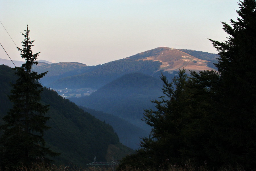
M 162 95 L 160 79 L 141 73 L 126 74 L 90 96 L 72 98 L 77 105 L 105 111 L 125 119 L 141 119 L 150 100 Z

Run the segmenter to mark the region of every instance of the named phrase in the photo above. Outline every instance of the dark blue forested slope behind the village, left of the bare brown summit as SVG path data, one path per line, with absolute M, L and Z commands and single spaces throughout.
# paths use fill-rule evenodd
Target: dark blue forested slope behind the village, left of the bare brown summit
M 116 60 L 102 64 L 98 69 L 91 72 L 60 79 L 49 86 L 59 88 L 94 87 L 98 89 L 124 74 L 132 72 L 152 74 L 159 66 L 160 62 L 158 61 Z

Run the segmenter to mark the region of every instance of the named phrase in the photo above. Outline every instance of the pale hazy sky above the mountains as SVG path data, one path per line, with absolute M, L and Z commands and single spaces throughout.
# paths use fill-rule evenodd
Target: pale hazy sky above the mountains
M 28 25 L 38 59 L 98 65 L 163 46 L 216 53 L 207 38 L 226 40 L 221 22 L 235 9 L 237 0 L 0 0 L 0 21 L 20 48 Z M 22 60 L 4 27 L 0 43 Z

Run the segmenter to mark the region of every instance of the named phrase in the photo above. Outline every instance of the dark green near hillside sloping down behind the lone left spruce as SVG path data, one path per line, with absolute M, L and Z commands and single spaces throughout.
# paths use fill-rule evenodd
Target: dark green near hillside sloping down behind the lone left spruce
M 11 87 L 9 82 L 15 82 L 14 70 L 8 66 L 0 66 L 0 117 L 6 115 L 11 108 L 7 97 Z M 114 157 L 120 158 L 131 150 L 119 143 L 119 138 L 113 128 L 96 119 L 94 116 L 80 109 L 75 103 L 63 99 L 55 91 L 44 88 L 42 92 L 42 103 L 49 104 L 47 113 L 51 119 L 47 125 L 51 127 L 44 133 L 46 146 L 61 155 L 54 158 L 57 164 L 76 164 L 85 166 L 93 161 L 94 156 L 98 160 L 106 161 L 108 152 L 115 146 Z M 1 120 L 1 123 L 2 120 Z

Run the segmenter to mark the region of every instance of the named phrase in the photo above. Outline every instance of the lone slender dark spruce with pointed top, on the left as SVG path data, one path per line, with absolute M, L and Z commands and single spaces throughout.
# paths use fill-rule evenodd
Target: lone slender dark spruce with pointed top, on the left
M 47 72 L 38 74 L 31 71 L 39 53 L 33 54 L 31 47 L 34 42 L 30 40 L 30 30 L 24 30 L 25 39 L 22 42 L 23 49 L 18 48 L 21 57 L 26 63 L 21 67 L 15 67 L 15 75 L 18 76 L 16 84 L 9 96 L 13 108 L 3 117 L 5 124 L 1 125 L 3 131 L 1 143 L 1 169 L 15 168 L 21 164 L 30 165 L 31 162 L 48 161 L 47 156 L 55 156 L 57 153 L 45 147 L 43 133 L 49 129 L 46 121 L 49 117 L 44 114 L 48 111 L 48 105 L 40 103 L 42 85 L 38 82 Z

